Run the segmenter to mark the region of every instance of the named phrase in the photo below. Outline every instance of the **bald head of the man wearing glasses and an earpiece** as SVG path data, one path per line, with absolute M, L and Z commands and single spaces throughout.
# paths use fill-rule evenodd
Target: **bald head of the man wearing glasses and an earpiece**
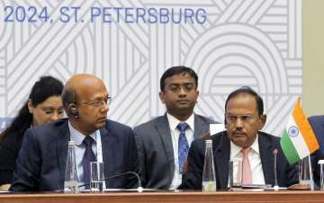
M 64 86 L 62 101 L 71 125 L 83 135 L 104 128 L 109 93 L 94 75 L 74 75 Z

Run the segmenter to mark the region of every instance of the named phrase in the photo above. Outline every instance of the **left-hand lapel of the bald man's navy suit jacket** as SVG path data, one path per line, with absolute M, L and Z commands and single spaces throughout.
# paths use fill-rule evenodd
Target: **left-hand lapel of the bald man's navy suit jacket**
M 69 140 L 69 130 L 67 125 L 67 120 L 58 129 L 58 142 L 57 142 L 57 149 L 58 149 L 58 172 L 59 172 L 59 183 L 64 183 L 65 179 L 65 168 L 67 163 L 67 144 Z M 60 188 L 64 188 L 63 185 Z

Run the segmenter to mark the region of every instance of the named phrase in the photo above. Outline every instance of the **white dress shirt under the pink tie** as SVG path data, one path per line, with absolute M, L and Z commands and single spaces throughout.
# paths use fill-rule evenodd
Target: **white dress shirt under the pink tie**
M 258 135 L 256 140 L 251 146 L 252 150 L 248 153 L 248 161 L 251 165 L 252 172 L 252 184 L 265 184 L 265 176 L 262 169 L 259 145 L 258 145 Z M 243 154 L 240 152 L 242 147 L 236 146 L 232 141 L 230 141 L 230 160 L 239 159 L 243 160 Z M 238 177 L 238 166 L 233 167 L 233 178 L 237 180 Z

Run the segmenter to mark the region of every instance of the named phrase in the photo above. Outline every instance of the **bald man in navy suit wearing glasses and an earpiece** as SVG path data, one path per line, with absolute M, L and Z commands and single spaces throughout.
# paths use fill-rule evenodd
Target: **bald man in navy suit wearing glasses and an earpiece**
M 71 77 L 62 93 L 68 119 L 26 131 L 10 190 L 63 190 L 68 140 L 76 142 L 77 175 L 85 184 L 90 180 L 91 161 L 103 161 L 105 176 L 139 172 L 131 128 L 106 119 L 109 100 L 99 78 L 94 75 Z M 105 181 L 106 188 L 128 189 L 137 184 L 134 176 Z

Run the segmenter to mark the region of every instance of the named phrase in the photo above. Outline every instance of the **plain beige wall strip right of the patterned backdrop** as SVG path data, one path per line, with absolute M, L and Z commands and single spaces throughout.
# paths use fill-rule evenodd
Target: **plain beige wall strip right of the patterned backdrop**
M 324 1 L 302 1 L 302 107 L 324 114 Z

